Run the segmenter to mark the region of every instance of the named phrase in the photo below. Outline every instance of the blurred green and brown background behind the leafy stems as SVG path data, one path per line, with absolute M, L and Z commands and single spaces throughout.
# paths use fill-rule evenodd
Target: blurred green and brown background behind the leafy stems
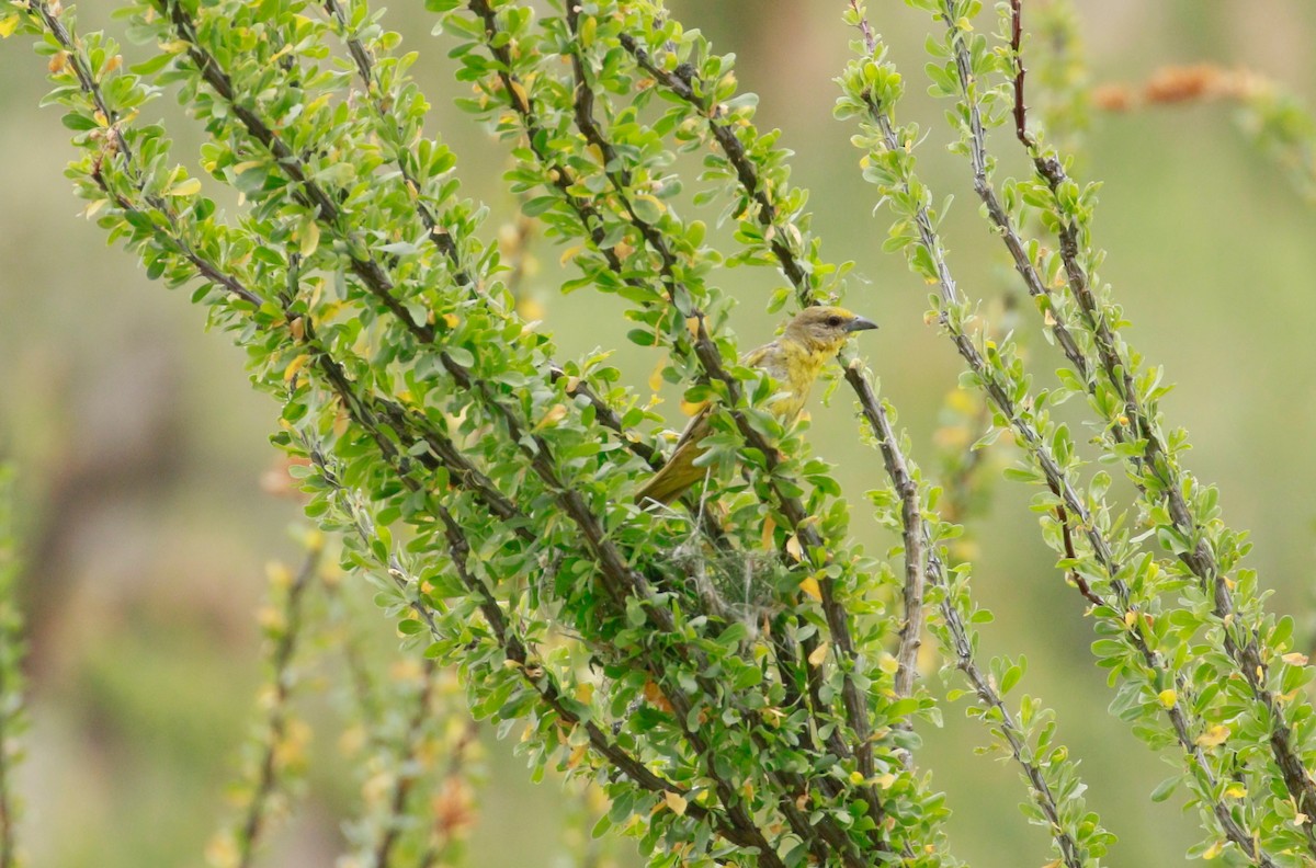
M 87 29 L 103 26 L 114 4 L 83 5 Z M 467 192 L 494 208 L 492 237 L 513 213 L 499 184 L 505 150 L 451 109 L 465 88 L 446 75 L 446 47 L 429 36 L 429 17 L 411 8 L 420 4 L 397 5 L 407 8 L 390 11 L 387 26 L 421 53 L 415 72 L 434 103 L 432 129 L 458 153 Z M 1309 104 L 1316 7 L 1263 5 L 1078 3 L 1091 79 L 1137 83 L 1161 64 L 1209 60 L 1271 76 Z M 762 97 L 759 126 L 782 128 L 782 143 L 796 151 L 792 180 L 812 189 L 824 251 L 858 263 L 849 306 L 883 325 L 862 350 L 901 412 L 913 456 L 930 468 L 932 431 L 958 364 L 923 324 L 926 288 L 903 260 L 880 253 L 887 224 L 871 216 L 873 189 L 858 183 L 854 130 L 830 117 L 832 78 L 851 38 L 840 22 L 844 4 L 672 7 L 717 50 L 737 54 L 741 87 Z M 911 83 L 900 118 L 933 128 L 920 174 L 938 197 L 957 196 L 945 225 L 951 266 L 966 292 L 999 299 L 1012 289 L 1001 251 L 976 216 L 965 167 L 942 147 L 944 107 L 923 96 L 929 24 L 900 4 L 871 7 Z M 130 46 L 134 57 L 141 49 Z M 203 334 L 204 313 L 186 295 L 150 284 L 79 217 L 82 204 L 62 176 L 67 130 L 58 110 L 37 108 L 43 72 L 24 38 L 0 43 L 0 450 L 20 473 L 33 631 L 22 838 L 33 864 L 197 865 L 229 811 L 224 784 L 255 714 L 253 614 L 263 564 L 296 560 L 284 529 L 297 509 L 262 491 L 275 460 L 266 438 L 276 408 L 247 388 L 242 354 Z M 1134 324 L 1129 339 L 1178 383 L 1165 409 L 1192 435 L 1191 470 L 1223 488 L 1225 519 L 1252 530 L 1250 566 L 1275 592 L 1271 609 L 1294 613 L 1311 634 L 1316 210 L 1249 145 L 1236 112 L 1195 103 L 1096 116 L 1078 174 L 1105 181 L 1096 222 L 1096 241 L 1109 251 L 1103 276 Z M 147 109 L 147 118 L 155 114 L 178 118 L 168 99 Z M 196 128 L 171 129 L 178 155 L 195 155 Z M 1000 150 L 1017 153 L 1005 132 L 995 135 Z M 1008 160 L 1004 170 L 1023 171 Z M 544 267 L 528 289 L 562 355 L 621 343 L 615 309 L 588 293 L 558 297 L 558 253 L 541 245 L 537 254 Z M 742 341 L 766 339 L 775 317 L 762 308 L 776 276 L 740 270 L 717 280 L 741 300 L 734 327 Z M 1038 371 L 1057 366 L 1041 341 L 1030 346 Z M 636 384 L 654 364 L 640 347 L 617 359 Z M 880 464 L 857 446 L 849 401 L 813 413 L 809 439 L 845 466 L 849 492 L 862 502 L 861 492 L 880 483 Z M 1028 655 L 1024 689 L 1058 710 L 1062 740 L 1083 758 L 1090 804 L 1120 836 L 1112 863 L 1177 864 L 1199 836 L 1195 817 L 1177 797 L 1146 798 L 1171 768 L 1105 713 L 1111 692 L 1087 654 L 1090 625 L 1038 539 L 1030 493 L 998 484 L 991 516 L 974 527 L 974 585 L 998 618 L 983 631 L 983 651 Z M 855 529 L 873 533 L 858 518 Z M 871 548 L 886 544 L 875 537 Z M 392 642 L 383 623 L 380 639 Z M 983 736 L 962 708 L 948 709 L 945 729 L 925 738 L 920 761 L 948 793 L 955 854 L 984 868 L 1046 861 L 1045 832 L 1016 808 L 1024 789 L 1013 768 L 973 752 Z M 571 864 L 569 800 L 553 781 L 529 784 L 511 743 L 487 748 L 471 864 Z M 324 865 L 342 850 L 354 784 L 333 768 L 312 775 L 307 801 L 265 864 Z

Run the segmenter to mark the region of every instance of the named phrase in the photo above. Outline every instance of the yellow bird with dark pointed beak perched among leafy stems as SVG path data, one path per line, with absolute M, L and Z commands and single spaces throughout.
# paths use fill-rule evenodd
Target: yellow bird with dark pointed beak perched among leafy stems
M 804 409 L 813 380 L 841 351 L 846 338 L 854 331 L 876 327 L 875 322 L 845 308 L 805 308 L 795 314 L 782 337 L 747 352 L 742 362 L 763 368 L 780 384 L 782 391 L 771 406 L 779 418 L 790 422 Z M 707 468 L 696 467 L 695 460 L 704 454 L 700 443 L 711 430 L 708 414 L 705 405 L 690 420 L 671 458 L 636 494 L 637 504 L 650 500 L 670 504 L 704 477 Z

